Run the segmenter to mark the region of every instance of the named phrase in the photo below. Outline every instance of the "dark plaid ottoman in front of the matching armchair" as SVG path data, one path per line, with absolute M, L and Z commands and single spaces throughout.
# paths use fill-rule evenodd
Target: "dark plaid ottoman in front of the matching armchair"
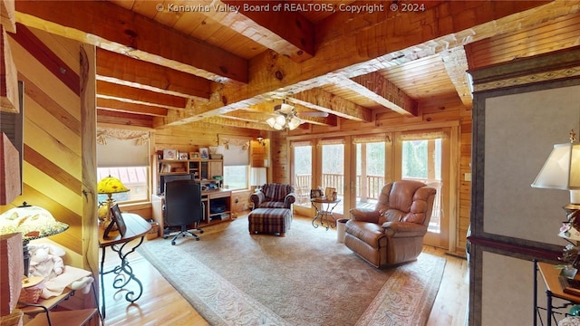
M 250 235 L 260 232 L 285 236 L 292 223 L 292 211 L 288 208 L 256 208 L 247 220 Z

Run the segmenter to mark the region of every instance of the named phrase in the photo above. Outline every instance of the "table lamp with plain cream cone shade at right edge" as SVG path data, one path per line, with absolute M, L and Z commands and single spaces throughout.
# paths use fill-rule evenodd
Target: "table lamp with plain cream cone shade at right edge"
M 563 208 L 567 223 L 575 229 L 573 234 L 578 235 L 574 240 L 580 240 L 580 143 L 574 129 L 570 131 L 569 143 L 554 145 L 532 187 L 570 191 L 570 204 Z

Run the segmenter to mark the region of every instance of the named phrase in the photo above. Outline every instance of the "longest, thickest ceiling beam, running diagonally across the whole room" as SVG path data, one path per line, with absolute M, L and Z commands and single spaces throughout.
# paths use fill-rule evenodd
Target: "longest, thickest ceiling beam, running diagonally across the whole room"
M 277 53 L 262 53 L 250 60 L 252 78 L 247 85 L 225 84 L 218 94 L 212 95 L 208 103 L 196 110 L 197 115 L 169 114 L 166 118 L 155 119 L 155 127 L 224 114 L 263 101 L 264 94 L 268 92 L 287 96 L 333 83 L 336 78 L 353 78 L 376 72 L 494 34 L 507 33 L 520 28 L 521 24 L 537 24 L 538 17 L 548 19 L 570 14 L 570 5 L 558 2 L 547 5 L 543 5 L 545 2 L 518 4 L 502 7 L 502 4 L 494 2 L 454 2 L 452 5 L 445 2 L 425 12 L 412 14 L 412 21 L 409 14 L 395 14 L 389 19 L 376 20 L 370 26 L 364 24 L 359 26 L 361 29 L 344 31 L 345 34 L 340 38 L 321 39 L 321 43 L 316 44 L 316 55 L 302 63 L 293 62 Z M 521 12 L 535 6 L 538 7 Z M 474 13 L 478 13 L 478 21 L 473 20 L 476 16 Z M 356 19 L 364 17 L 367 15 L 356 15 Z M 372 15 L 369 17 L 372 18 Z M 446 22 L 445 26 L 460 26 L 464 29 L 440 28 L 441 21 Z M 498 21 L 501 21 L 502 30 L 498 30 Z M 329 19 L 324 24 L 328 30 L 332 30 L 331 25 L 342 29 L 340 24 L 343 22 Z

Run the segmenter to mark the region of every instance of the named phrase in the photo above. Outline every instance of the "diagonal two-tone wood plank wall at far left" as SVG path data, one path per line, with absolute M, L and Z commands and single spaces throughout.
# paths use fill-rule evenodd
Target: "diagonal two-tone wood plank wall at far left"
M 51 240 L 67 248 L 73 262 L 82 262 L 82 138 L 79 127 L 82 113 L 76 73 L 80 71 L 79 53 L 78 50 L 71 53 L 70 42 L 59 42 L 58 38 L 45 33 L 32 34 L 24 27 L 19 28 L 18 33 L 11 34 L 9 39 L 19 75 L 28 83 L 24 102 L 30 102 L 31 110 L 29 113 L 24 110 L 23 195 L 11 206 L 18 206 L 23 201 L 43 206 L 55 218 L 71 225 L 69 230 L 53 235 Z M 62 49 L 63 44 L 66 44 L 65 49 Z M 71 68 L 72 58 L 76 60 L 75 68 Z

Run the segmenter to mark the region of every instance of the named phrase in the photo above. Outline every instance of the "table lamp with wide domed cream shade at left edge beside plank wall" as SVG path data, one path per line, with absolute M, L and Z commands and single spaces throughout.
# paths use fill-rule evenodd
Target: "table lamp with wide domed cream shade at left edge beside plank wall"
M 58 222 L 46 209 L 39 206 L 30 206 L 23 203 L 5 211 L 0 215 L 0 235 L 15 232 L 22 233 L 24 254 L 24 275 L 28 276 L 30 253 L 28 243 L 30 240 L 58 235 L 69 228 L 69 225 Z

